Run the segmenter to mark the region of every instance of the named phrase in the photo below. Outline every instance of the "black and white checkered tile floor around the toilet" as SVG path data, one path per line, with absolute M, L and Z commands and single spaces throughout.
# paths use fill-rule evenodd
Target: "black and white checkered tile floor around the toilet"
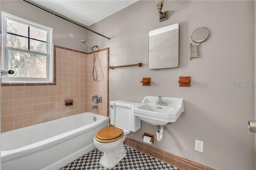
M 126 156 L 111 170 L 180 170 L 138 150 L 124 147 L 127 150 Z M 60 170 L 107 170 L 99 164 L 102 155 L 102 152 L 94 149 Z

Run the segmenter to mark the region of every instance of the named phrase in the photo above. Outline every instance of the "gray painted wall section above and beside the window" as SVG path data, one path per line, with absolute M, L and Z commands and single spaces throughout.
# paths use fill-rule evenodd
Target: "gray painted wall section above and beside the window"
M 62 20 L 21 0 L 1 0 L 1 11 L 53 28 L 53 44 L 86 51 L 80 39 L 87 39 L 87 30 Z

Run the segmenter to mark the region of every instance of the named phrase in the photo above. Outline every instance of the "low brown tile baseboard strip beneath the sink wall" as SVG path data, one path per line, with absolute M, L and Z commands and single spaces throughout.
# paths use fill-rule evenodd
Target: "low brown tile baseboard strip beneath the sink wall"
M 176 156 L 174 154 L 166 152 L 165 150 L 152 147 L 150 145 L 136 141 L 134 139 L 130 139 L 128 137 L 126 137 L 126 139 L 124 140 L 124 145 L 127 145 L 133 149 L 139 150 L 140 152 L 153 156 L 182 170 L 214 170 L 213 168 L 210 168 L 208 166 L 204 166 L 192 160 Z

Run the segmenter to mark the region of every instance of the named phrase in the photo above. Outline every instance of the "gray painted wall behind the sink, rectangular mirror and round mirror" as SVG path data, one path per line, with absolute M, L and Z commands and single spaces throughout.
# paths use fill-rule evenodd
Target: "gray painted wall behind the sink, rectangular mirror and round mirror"
M 253 1 L 165 1 L 169 19 L 158 22 L 154 1 L 138 1 L 90 28 L 110 37 L 88 33 L 99 48 L 110 47 L 110 65 L 143 63 L 142 67 L 110 70 L 110 101 L 141 102 L 144 96 L 184 98 L 185 111 L 167 125 L 154 147 L 216 169 L 254 169 L 254 88 L 234 88 L 234 83 L 254 82 Z M 148 31 L 170 23 L 180 24 L 178 68 L 147 68 Z M 198 27 L 210 30 L 200 45 L 200 58 L 189 60 L 190 35 Z M 191 76 L 191 87 L 179 87 L 179 76 Z M 142 86 L 151 77 L 151 86 Z M 142 127 L 128 137 L 142 141 Z M 132 135 L 132 136 L 130 136 Z M 204 141 L 204 152 L 194 150 L 195 139 Z

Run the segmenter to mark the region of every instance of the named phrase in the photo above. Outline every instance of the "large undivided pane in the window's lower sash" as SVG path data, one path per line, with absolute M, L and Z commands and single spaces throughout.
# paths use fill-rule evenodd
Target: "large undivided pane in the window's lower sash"
M 46 56 L 9 50 L 9 77 L 46 78 Z

